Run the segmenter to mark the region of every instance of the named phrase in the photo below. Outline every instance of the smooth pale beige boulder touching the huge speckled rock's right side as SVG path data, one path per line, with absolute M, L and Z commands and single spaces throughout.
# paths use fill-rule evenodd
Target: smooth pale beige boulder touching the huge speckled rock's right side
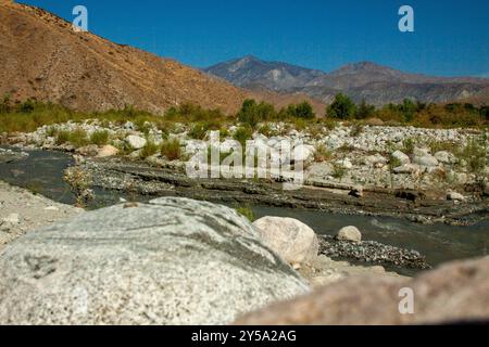
M 317 257 L 319 242 L 314 230 L 297 219 L 263 217 L 253 226 L 265 244 L 289 264 L 309 262 Z

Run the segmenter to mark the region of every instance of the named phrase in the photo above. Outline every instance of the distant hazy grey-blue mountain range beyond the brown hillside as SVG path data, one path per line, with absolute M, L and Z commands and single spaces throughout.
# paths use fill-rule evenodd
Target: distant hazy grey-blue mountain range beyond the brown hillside
M 343 92 L 354 101 L 383 105 L 412 98 L 422 102 L 489 101 L 489 79 L 471 77 L 431 77 L 408 74 L 371 62 L 343 66 L 331 73 L 292 66 L 279 62 L 263 62 L 246 56 L 204 69 L 236 86 L 297 93 L 302 92 L 324 103 Z

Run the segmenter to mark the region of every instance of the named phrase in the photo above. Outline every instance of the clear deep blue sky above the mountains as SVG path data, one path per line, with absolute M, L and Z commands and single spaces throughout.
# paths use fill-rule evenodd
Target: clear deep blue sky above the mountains
M 253 54 L 331 70 L 373 61 L 440 76 L 489 77 L 488 0 L 23 0 L 72 21 L 89 11 L 89 30 L 203 67 Z M 415 33 L 398 29 L 398 10 L 415 11 Z

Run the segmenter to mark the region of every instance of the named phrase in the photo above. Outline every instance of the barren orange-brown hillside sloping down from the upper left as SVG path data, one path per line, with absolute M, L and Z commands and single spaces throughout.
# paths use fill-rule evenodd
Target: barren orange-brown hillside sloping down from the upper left
M 0 1 L 0 97 L 80 111 L 133 104 L 160 113 L 185 101 L 234 112 L 247 92 L 178 62 L 77 34 L 43 10 Z

